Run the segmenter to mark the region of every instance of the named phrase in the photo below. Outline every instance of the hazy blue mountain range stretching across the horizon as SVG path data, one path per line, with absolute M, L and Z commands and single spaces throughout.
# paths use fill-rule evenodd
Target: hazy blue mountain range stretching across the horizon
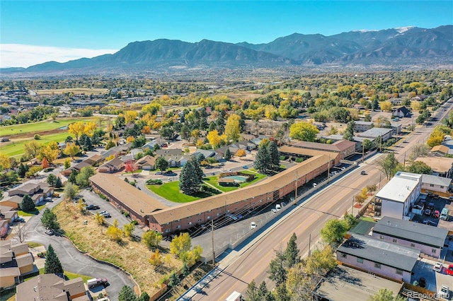
M 131 42 L 115 54 L 66 63 L 49 61 L 7 73 L 90 74 L 137 73 L 209 68 L 289 66 L 420 66 L 453 64 L 453 25 L 438 28 L 354 30 L 338 35 L 294 33 L 267 44 L 159 39 Z

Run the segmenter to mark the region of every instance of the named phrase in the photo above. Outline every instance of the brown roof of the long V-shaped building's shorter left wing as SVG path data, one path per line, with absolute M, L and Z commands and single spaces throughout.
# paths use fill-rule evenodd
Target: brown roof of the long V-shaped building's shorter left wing
M 139 216 L 167 208 L 163 203 L 133 187 L 115 175 L 98 173 L 90 177 L 91 182 L 101 187 L 120 202 L 131 208 Z

